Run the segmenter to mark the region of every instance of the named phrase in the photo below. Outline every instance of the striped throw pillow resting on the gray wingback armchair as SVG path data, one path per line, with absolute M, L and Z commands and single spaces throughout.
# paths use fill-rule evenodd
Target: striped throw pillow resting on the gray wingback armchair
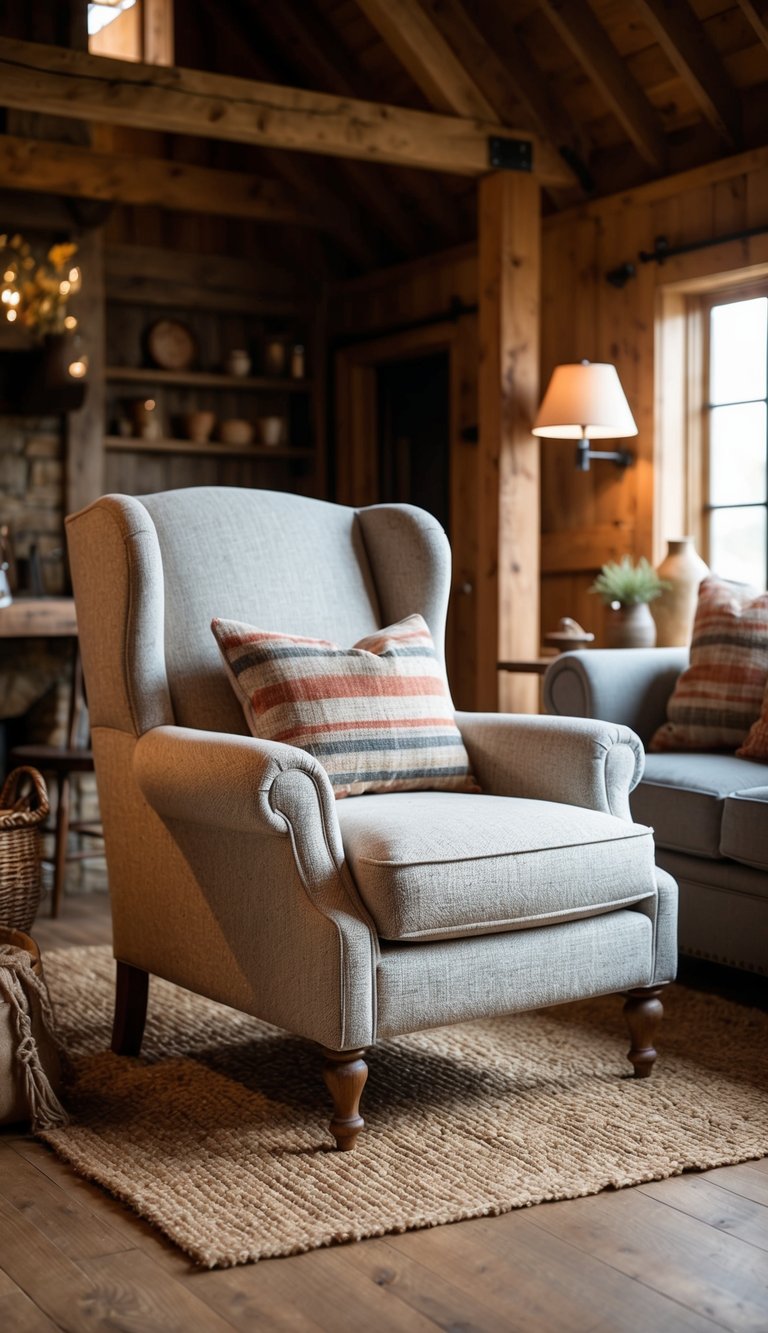
M 333 792 L 477 792 L 421 616 L 339 648 L 233 620 L 211 625 L 253 736 L 308 750 Z

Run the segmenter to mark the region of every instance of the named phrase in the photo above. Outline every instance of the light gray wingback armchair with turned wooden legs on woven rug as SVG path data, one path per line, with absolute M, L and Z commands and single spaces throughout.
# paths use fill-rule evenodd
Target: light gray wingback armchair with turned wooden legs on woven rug
M 625 726 L 459 713 L 480 796 L 333 798 L 256 740 L 215 616 L 351 645 L 420 612 L 443 651 L 449 549 L 409 505 L 197 488 L 67 521 L 113 905 L 113 1049 L 148 976 L 317 1042 L 331 1130 L 363 1125 L 365 1049 L 461 1020 L 625 992 L 651 1070 L 675 974 L 676 886 L 628 796 Z

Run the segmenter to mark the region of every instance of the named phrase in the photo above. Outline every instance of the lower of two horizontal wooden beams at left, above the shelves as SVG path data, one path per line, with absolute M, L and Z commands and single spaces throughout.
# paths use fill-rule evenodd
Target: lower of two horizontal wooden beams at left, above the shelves
M 261 223 L 336 227 L 336 219 L 300 207 L 277 181 L 260 176 L 13 135 L 0 135 L 0 185 Z

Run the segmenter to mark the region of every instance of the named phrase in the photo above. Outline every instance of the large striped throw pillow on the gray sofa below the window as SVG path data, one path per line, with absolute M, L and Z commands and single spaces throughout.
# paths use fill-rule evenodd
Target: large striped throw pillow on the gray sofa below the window
M 768 593 L 715 576 L 699 588 L 691 665 L 651 750 L 735 750 L 760 716 L 768 681 Z

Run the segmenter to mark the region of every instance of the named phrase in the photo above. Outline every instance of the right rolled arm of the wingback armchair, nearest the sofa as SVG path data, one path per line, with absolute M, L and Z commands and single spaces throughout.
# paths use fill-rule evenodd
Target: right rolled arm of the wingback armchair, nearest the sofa
M 516 713 L 457 713 L 456 722 L 484 792 L 632 818 L 644 752 L 628 726 Z

